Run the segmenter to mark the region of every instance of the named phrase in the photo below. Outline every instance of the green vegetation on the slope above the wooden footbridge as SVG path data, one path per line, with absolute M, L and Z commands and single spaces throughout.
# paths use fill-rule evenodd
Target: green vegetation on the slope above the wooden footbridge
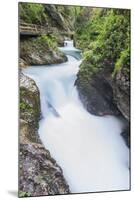
M 79 7 L 74 6 L 19 3 L 21 21 L 65 30 L 74 28 L 75 15 L 78 12 Z

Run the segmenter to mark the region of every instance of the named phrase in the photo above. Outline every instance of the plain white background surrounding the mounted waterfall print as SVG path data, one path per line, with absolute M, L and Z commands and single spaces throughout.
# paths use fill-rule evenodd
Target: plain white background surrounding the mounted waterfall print
M 25 1 L 21 1 L 25 2 Z M 29 0 L 30 2 L 30 0 Z M 56 3 L 66 5 L 88 5 L 101 7 L 118 7 L 132 9 L 132 44 L 134 44 L 134 8 L 130 0 L 44 0 L 31 1 L 41 3 Z M 3 0 L 0 3 L 0 198 L 2 200 L 16 199 L 14 195 L 17 191 L 17 171 L 18 171 L 18 0 Z M 134 46 L 132 46 L 132 66 L 134 66 Z M 131 69 L 133 91 L 134 70 Z M 131 98 L 134 97 L 132 93 Z M 133 102 L 131 100 L 131 102 Z M 131 105 L 132 116 L 134 106 Z M 134 130 L 133 119 L 131 122 Z M 132 131 L 131 131 L 132 132 Z M 132 133 L 132 141 L 134 136 Z M 133 199 L 134 191 L 134 159 L 132 143 L 132 191 L 131 192 L 112 192 L 94 193 L 81 195 L 40 197 L 31 199 Z M 29 198 L 23 198 L 29 199 Z

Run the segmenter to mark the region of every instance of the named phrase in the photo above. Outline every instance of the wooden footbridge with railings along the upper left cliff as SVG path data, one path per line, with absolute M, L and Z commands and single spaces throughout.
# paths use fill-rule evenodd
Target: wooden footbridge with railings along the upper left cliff
M 20 23 L 19 26 L 20 35 L 24 36 L 39 36 L 43 34 L 52 34 L 58 33 L 65 35 L 65 36 L 73 36 L 74 32 L 71 31 L 58 31 L 57 27 L 51 26 L 41 26 L 37 24 L 29 24 L 29 23 Z

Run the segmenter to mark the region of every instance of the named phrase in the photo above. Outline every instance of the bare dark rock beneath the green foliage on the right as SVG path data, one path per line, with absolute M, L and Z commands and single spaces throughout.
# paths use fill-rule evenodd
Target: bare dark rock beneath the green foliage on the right
M 123 117 L 126 127 L 121 134 L 127 146 L 130 146 L 130 80 L 123 69 L 112 77 L 105 68 L 88 80 L 85 80 L 80 70 L 75 84 L 83 105 L 91 114 Z

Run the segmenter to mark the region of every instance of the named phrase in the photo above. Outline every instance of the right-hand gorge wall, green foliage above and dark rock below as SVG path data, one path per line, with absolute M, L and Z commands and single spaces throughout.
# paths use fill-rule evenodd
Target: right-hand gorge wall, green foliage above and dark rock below
M 92 114 L 122 116 L 129 146 L 130 10 L 84 8 L 76 22 L 76 44 L 83 50 L 75 83 L 80 98 Z

